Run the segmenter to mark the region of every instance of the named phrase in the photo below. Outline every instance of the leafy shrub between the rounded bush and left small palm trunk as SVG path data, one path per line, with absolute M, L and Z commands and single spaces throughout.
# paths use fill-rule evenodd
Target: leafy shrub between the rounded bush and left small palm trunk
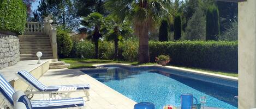
M 73 47 L 74 50 L 77 50 L 77 54 L 79 58 L 85 59 L 93 59 L 95 57 L 95 46 L 91 41 L 79 41 L 76 44 L 76 47 Z

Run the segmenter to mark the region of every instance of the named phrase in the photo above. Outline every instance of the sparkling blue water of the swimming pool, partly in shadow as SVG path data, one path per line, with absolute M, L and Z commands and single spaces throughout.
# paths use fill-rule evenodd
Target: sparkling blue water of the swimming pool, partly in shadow
M 199 103 L 200 97 L 206 96 L 207 107 L 237 108 L 237 88 L 170 73 L 152 70 L 132 72 L 112 67 L 107 73 L 88 75 L 136 102 L 153 102 L 157 109 L 166 104 L 180 107 L 180 95 L 183 93 L 192 93 Z

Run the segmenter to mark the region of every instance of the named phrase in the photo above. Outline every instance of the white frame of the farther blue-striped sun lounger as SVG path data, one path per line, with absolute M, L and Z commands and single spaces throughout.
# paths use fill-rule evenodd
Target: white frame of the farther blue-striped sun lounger
M 27 88 L 27 91 L 24 92 L 25 94 L 49 94 L 49 97 L 52 98 L 52 95 L 53 97 L 56 97 L 56 94 L 59 95 L 59 97 L 61 98 L 70 98 L 69 95 L 71 93 L 74 93 L 74 92 L 84 92 L 85 93 L 85 97 L 87 98 L 87 100 L 89 101 L 90 98 L 90 89 L 78 89 L 76 91 L 61 91 L 61 92 L 57 92 L 57 91 L 39 91 L 37 88 L 35 88 L 32 84 L 30 84 L 27 80 L 23 79 L 19 74 L 16 74 L 17 76 L 19 76 L 19 78 L 26 82 L 26 84 L 28 84 L 28 88 Z M 33 91 L 35 90 L 35 91 Z

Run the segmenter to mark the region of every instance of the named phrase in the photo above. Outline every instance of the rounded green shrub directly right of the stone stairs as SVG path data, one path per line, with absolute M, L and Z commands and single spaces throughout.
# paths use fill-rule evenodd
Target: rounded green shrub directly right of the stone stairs
M 58 56 L 67 57 L 72 50 L 72 40 L 69 34 L 63 30 L 57 30 Z

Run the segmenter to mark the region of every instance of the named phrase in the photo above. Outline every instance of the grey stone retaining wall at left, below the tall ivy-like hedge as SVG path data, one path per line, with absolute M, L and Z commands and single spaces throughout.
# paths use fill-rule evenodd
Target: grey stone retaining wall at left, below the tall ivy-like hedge
M 20 42 L 17 35 L 0 33 L 0 69 L 20 61 Z

